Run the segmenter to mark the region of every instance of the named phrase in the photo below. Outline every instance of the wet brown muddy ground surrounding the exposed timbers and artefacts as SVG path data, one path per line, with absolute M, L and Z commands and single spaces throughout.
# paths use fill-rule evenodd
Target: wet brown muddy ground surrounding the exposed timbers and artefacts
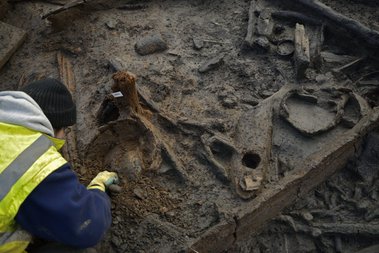
M 307 11 L 301 6 L 288 5 L 287 1 L 262 2 L 275 9 Z M 379 29 L 378 3 L 323 2 L 374 30 Z M 236 127 L 245 112 L 274 95 L 286 83 L 302 86 L 296 80 L 293 58 L 283 59 L 276 55 L 278 42 L 293 39 L 294 22 L 277 21 L 274 39 L 268 47 L 257 44 L 246 47 L 249 1 L 159 0 L 129 1 L 127 4 L 144 7 L 92 12 L 74 21 L 70 27 L 53 31 L 50 23 L 41 16 L 57 5 L 41 1 L 13 3 L 2 21 L 26 30 L 29 35 L 0 70 L 0 90 L 17 89 L 24 72 L 41 72 L 47 77 L 58 78 L 58 51 L 70 60 L 78 108 L 74 129 L 77 159 L 72 161 L 72 169 L 78 173 L 81 183 L 88 184 L 100 171 L 114 169 L 115 159 L 119 156 L 138 148 L 143 156 L 149 144 L 147 131 L 138 132 L 133 127 L 99 131 L 106 124 L 97 117 L 98 111 L 104 98 L 112 92 L 109 80 L 114 68 L 110 60 L 118 58 L 161 111 L 175 115 L 176 119 L 186 119 L 187 123 L 175 126 L 140 99 L 144 109 L 152 110 L 150 122 L 167 147 L 174 151 L 177 162 L 173 162 L 163 148 L 157 170 L 144 168 L 134 176 L 120 173 L 123 191 L 111 196 L 113 224 L 102 242 L 102 252 L 185 252 L 188 247 L 177 239 L 186 244 L 193 243 L 204 231 L 248 201 L 240 198 L 233 184 L 202 159 L 199 150 L 202 149 L 200 136 L 204 133 L 204 124 L 201 123 L 221 122 L 210 124 L 210 128 L 230 141 L 235 137 Z M 114 28 L 110 27 L 110 22 L 114 23 Z M 318 28 L 307 24 L 304 27 L 309 37 Z M 162 36 L 168 49 L 139 55 L 135 44 L 155 36 Z M 204 40 L 204 47 L 200 50 L 194 47 L 194 36 Z M 330 34 L 325 36 L 323 50 L 337 55 L 359 56 L 356 48 Z M 202 64 L 221 54 L 224 58 L 220 64 L 204 73 L 198 71 Z M 353 83 L 374 70 L 377 70 L 375 62 L 363 61 L 333 85 Z M 315 77 L 319 74 L 319 70 L 310 69 L 308 82 L 316 83 Z M 294 112 L 291 116 L 301 118 L 301 125 L 305 128 L 312 128 L 317 123 L 321 128 L 326 127 L 335 114 L 330 108 L 296 99 L 291 101 L 289 109 Z M 300 110 L 309 114 L 303 118 L 297 113 Z M 346 110 L 346 115 L 354 114 L 352 111 L 354 109 Z M 314 114 L 320 117 L 311 117 Z M 188 123 L 188 119 L 192 123 Z M 284 164 L 279 177 L 349 130 L 338 126 L 319 139 L 305 138 L 279 116 L 273 121 L 273 150 Z M 283 141 L 283 136 L 301 141 Z M 99 143 L 105 148 L 96 151 L 93 145 Z M 229 165 L 232 151 L 226 146 L 215 145 L 211 151 L 219 164 Z M 361 160 L 365 159 L 368 158 L 361 157 Z M 366 185 L 365 178 L 359 177 L 363 175 L 357 173 L 361 160 L 349 161 L 341 172 L 269 222 L 260 234 L 235 242 L 225 252 L 336 252 L 335 235 L 312 233 L 307 222 L 331 222 L 331 217 L 349 223 L 379 222 L 379 215 L 376 215 L 379 182 L 373 176 L 373 184 Z M 142 162 L 146 167 L 148 162 Z M 175 169 L 178 164 L 184 168 L 185 176 Z M 278 180 L 278 175 L 276 177 Z M 271 179 L 263 181 L 270 183 Z M 308 213 L 313 219 L 308 219 Z M 296 229 L 292 224 L 297 226 Z M 177 239 L 158 227 L 166 228 Z M 340 240 L 346 253 L 378 243 L 377 234 L 360 237 L 352 232 L 340 235 Z

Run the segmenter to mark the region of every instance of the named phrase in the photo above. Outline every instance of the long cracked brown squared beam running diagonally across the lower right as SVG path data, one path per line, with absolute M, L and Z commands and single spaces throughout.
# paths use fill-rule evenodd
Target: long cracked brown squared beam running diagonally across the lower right
M 287 91 L 284 90 L 284 92 Z M 212 227 L 200 236 L 193 248 L 199 252 L 218 252 L 233 243 L 230 242 L 233 235 L 235 240 L 239 241 L 246 236 L 258 233 L 261 226 L 268 220 L 337 172 L 348 158 L 355 155 L 356 149 L 363 144 L 363 137 L 378 123 L 379 108 L 374 108 L 329 148 L 309 156 L 296 166 L 292 173 L 280 179 L 275 186 L 262 192 L 249 203 L 240 206 L 238 208 L 240 211 L 235 215 L 234 231 L 230 229 L 231 224 L 226 221 L 221 222 L 217 230 Z

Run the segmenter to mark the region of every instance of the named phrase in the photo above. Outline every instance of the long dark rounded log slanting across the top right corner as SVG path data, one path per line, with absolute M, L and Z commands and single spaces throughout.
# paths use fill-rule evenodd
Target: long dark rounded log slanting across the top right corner
M 323 3 L 317 0 L 294 0 L 295 2 L 301 3 L 313 11 L 316 11 L 318 14 L 337 22 L 339 25 L 345 27 L 355 35 L 359 36 L 365 40 L 369 45 L 379 46 L 379 34 L 374 30 L 366 27 L 357 20 L 346 17 L 345 15 L 335 11 L 329 6 L 324 5 Z

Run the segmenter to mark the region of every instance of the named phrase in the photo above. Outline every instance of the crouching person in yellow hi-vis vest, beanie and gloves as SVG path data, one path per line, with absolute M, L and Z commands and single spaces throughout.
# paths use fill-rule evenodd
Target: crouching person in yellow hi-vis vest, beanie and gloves
M 76 122 L 76 106 L 59 80 L 44 78 L 0 92 L 0 253 L 21 253 L 33 234 L 54 242 L 38 252 L 96 252 L 111 223 L 101 172 L 85 187 L 58 153 Z

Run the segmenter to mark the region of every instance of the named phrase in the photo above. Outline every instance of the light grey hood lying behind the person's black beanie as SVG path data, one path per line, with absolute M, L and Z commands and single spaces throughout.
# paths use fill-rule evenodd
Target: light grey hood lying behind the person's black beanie
M 54 137 L 49 119 L 33 98 L 22 91 L 0 92 L 0 122 L 25 126 Z

